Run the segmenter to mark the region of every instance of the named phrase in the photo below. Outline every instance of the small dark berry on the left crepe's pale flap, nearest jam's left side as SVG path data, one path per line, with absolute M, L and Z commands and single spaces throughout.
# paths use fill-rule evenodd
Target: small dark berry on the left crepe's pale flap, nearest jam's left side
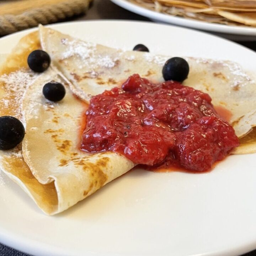
M 50 101 L 60 101 L 64 98 L 66 90 L 59 82 L 49 82 L 43 87 L 43 95 Z

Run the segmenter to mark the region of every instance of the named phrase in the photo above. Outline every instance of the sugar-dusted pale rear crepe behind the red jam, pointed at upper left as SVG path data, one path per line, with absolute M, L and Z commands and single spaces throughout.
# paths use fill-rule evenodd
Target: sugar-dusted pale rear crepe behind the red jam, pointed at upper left
M 39 30 L 43 48 L 73 82 L 74 93 L 84 100 L 120 86 L 134 73 L 163 81 L 162 66 L 170 56 L 92 45 L 42 26 Z M 102 65 L 102 59 L 111 65 Z M 238 137 L 250 132 L 256 126 L 255 81 L 236 63 L 196 58 L 187 58 L 187 61 L 190 73 L 184 84 L 208 93 L 214 106 L 228 109 L 229 122 Z

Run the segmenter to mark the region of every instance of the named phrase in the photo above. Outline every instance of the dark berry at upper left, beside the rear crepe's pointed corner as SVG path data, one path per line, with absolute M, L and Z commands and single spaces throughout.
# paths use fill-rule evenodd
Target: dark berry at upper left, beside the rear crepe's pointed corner
M 43 50 L 34 50 L 28 55 L 28 66 L 35 72 L 42 73 L 50 66 L 50 56 Z

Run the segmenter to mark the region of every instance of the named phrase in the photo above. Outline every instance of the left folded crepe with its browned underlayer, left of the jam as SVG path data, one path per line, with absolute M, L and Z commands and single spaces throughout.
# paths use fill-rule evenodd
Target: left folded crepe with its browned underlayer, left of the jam
M 134 164 L 117 153 L 79 150 L 85 103 L 73 95 L 54 67 L 37 75 L 23 62 L 38 48 L 37 35 L 21 39 L 1 69 L 1 116 L 22 119 L 26 135 L 22 145 L 0 152 L 0 167 L 51 215 L 73 206 Z M 50 81 L 65 85 L 65 98 L 58 103 L 42 95 L 43 85 Z

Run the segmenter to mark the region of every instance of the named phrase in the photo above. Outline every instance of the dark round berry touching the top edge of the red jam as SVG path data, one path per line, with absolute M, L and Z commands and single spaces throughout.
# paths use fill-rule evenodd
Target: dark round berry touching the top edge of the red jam
M 174 57 L 164 64 L 162 75 L 164 80 L 184 81 L 189 73 L 189 65 L 185 59 Z

